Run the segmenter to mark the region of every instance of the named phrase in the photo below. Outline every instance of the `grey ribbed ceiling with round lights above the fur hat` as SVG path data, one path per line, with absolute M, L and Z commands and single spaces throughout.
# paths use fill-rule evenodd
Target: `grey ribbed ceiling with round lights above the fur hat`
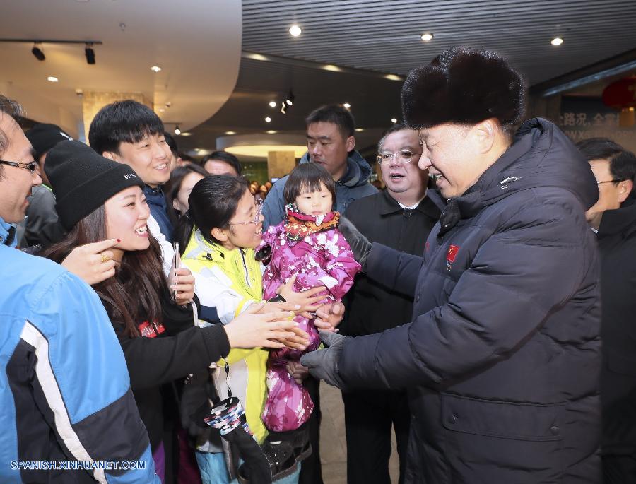
M 384 73 L 466 45 L 504 54 L 538 83 L 634 49 L 635 29 L 635 0 L 243 0 L 244 50 Z M 556 36 L 563 45 L 550 45 Z

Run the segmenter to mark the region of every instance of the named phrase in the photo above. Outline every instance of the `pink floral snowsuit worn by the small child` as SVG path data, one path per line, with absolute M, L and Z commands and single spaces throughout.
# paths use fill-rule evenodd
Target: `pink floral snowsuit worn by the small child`
M 287 218 L 263 235 L 261 247 L 271 247 L 271 261 L 263 274 L 264 299 L 276 297 L 276 289 L 295 274 L 296 292 L 322 285 L 325 288 L 322 303 L 341 300 L 353 285 L 360 264 L 336 228 L 338 212 L 310 216 L 298 212 L 294 206 L 285 207 L 285 212 Z M 286 365 L 316 350 L 320 338 L 312 320 L 297 316 L 294 321 L 310 335 L 307 349 L 272 350 L 267 365 L 269 394 L 263 421 L 269 430 L 276 432 L 297 429 L 310 418 L 314 409 L 307 390 L 294 381 Z

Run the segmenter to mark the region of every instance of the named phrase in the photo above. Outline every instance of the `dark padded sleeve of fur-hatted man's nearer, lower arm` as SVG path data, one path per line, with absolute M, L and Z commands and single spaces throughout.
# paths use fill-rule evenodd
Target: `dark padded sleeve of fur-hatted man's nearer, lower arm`
M 341 378 L 351 388 L 404 389 L 444 384 L 507 358 L 584 278 L 596 281 L 587 232 L 582 214 L 548 203 L 522 208 L 479 247 L 444 305 L 404 326 L 351 338 L 338 362 Z

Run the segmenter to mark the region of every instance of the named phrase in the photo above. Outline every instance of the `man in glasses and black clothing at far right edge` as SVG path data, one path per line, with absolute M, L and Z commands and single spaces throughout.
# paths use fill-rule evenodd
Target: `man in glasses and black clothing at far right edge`
M 636 156 L 607 138 L 577 144 L 599 185 L 587 220 L 601 257 L 601 450 L 606 484 L 636 479 Z

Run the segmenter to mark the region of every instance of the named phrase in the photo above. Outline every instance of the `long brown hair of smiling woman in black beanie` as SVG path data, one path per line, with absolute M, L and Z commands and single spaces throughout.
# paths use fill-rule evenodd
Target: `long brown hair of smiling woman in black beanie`
M 42 255 L 61 263 L 76 247 L 105 239 L 106 210 L 102 205 L 80 220 L 63 240 L 45 249 Z M 139 336 L 137 325 L 143 321 L 162 322 L 161 300 L 168 291 L 159 243 L 150 230 L 148 240 L 151 243 L 148 249 L 124 252 L 114 277 L 93 285 L 111 321 L 123 324 L 125 333 L 131 338 Z

